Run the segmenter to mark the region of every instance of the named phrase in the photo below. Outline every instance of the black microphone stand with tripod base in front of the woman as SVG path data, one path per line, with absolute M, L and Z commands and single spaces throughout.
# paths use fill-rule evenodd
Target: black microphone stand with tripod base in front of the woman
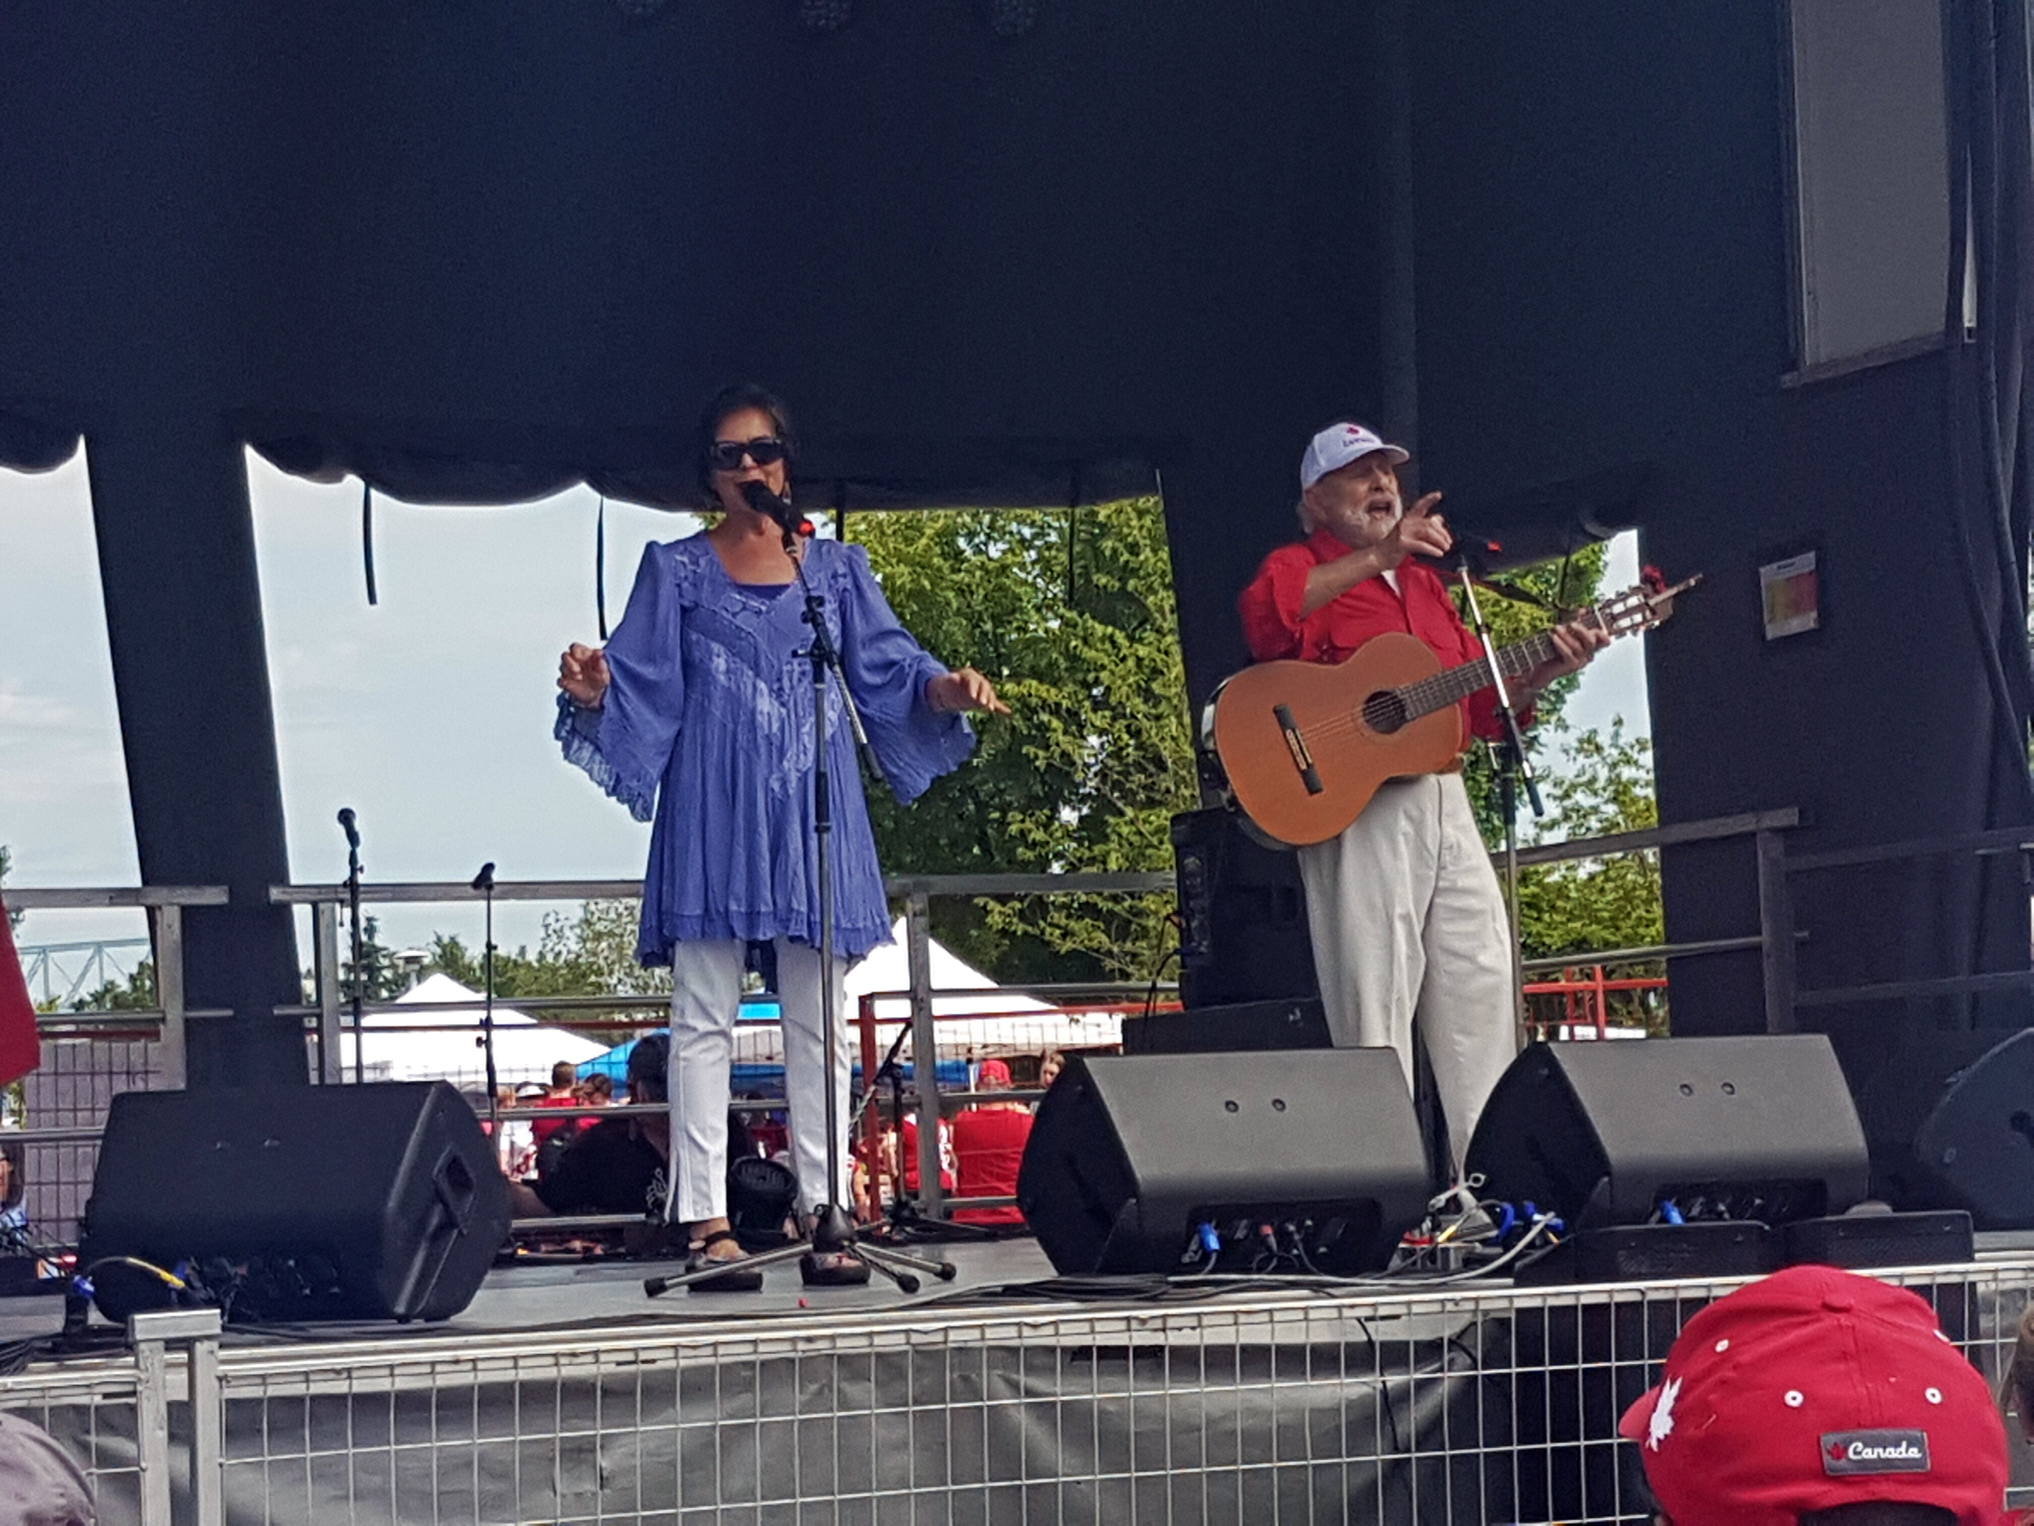
M 775 494 L 771 496 L 775 498 Z M 755 507 L 763 505 L 755 503 Z M 805 655 L 812 659 L 812 834 L 820 873 L 820 1021 L 826 1034 L 826 1196 L 812 1205 L 810 1247 L 791 1241 L 789 1245 L 779 1245 L 777 1249 L 746 1255 L 736 1261 L 736 1266 L 761 1270 L 777 1261 L 789 1261 L 795 1255 L 810 1272 L 822 1255 L 844 1255 L 864 1268 L 860 1280 L 866 1280 L 866 1270 L 873 1268 L 895 1282 L 901 1292 L 911 1294 L 919 1290 L 917 1272 L 930 1272 L 942 1282 L 952 1282 L 956 1276 L 954 1264 L 905 1255 L 889 1245 L 871 1245 L 854 1227 L 854 1217 L 840 1205 L 842 1129 L 840 1099 L 834 1095 L 834 1074 L 840 1060 L 840 1021 L 836 1011 L 838 1003 L 834 999 L 834 802 L 832 769 L 826 761 L 828 673 L 834 676 L 834 682 L 840 688 L 840 706 L 846 712 L 848 730 L 854 732 L 856 753 L 875 765 L 875 749 L 869 745 L 869 732 L 862 728 L 862 714 L 854 708 L 854 694 L 848 690 L 848 678 L 840 667 L 840 651 L 834 647 L 834 637 L 826 629 L 826 600 L 812 586 L 812 580 L 805 578 L 805 557 L 799 555 L 797 545 L 803 523 L 797 517 L 797 511 L 783 501 L 775 501 L 763 511 L 769 513 L 771 519 L 775 519 L 783 529 L 783 549 L 789 553 L 791 566 L 797 568 L 797 586 L 805 596 L 805 625 L 812 627 L 812 645 L 805 649 Z M 940 1121 L 934 1119 L 932 1127 L 940 1127 Z M 801 1182 L 801 1186 L 807 1194 L 812 1192 L 812 1182 Z M 694 1282 L 718 1278 L 726 1270 L 726 1266 L 706 1266 L 698 1272 L 683 1272 L 671 1278 L 649 1278 L 643 1282 L 643 1292 L 657 1298 L 671 1288 L 687 1288 Z

